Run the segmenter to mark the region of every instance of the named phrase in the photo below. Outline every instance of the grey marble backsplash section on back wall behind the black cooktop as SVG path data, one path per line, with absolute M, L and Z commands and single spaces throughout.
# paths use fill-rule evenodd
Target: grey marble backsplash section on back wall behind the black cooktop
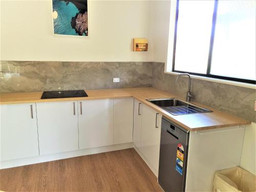
M 150 87 L 152 62 L 1 61 L 0 79 L 2 93 Z

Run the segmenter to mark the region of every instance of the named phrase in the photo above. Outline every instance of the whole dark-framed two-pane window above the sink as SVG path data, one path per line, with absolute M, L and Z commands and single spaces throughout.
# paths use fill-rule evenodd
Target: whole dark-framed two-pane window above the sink
M 167 71 L 255 84 L 256 1 L 177 0 L 175 8 Z

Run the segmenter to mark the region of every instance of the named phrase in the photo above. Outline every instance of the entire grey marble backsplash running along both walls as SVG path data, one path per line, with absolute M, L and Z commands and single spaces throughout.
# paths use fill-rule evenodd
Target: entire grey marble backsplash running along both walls
M 17 75 L 10 77 L 11 73 Z M 120 82 L 114 83 L 114 77 Z M 181 77 L 177 84 L 175 79 L 158 62 L 0 62 L 2 93 L 153 86 L 185 99 L 188 79 Z M 256 122 L 254 89 L 193 78 L 191 92 L 193 101 Z

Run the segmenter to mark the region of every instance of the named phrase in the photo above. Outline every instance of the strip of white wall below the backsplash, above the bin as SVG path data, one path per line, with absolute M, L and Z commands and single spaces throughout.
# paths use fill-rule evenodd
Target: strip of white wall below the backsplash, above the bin
M 240 166 L 256 175 L 256 123 L 245 128 L 244 144 Z

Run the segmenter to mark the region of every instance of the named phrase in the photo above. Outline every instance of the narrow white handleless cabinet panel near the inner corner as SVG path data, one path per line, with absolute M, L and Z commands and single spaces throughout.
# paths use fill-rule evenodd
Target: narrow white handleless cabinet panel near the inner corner
M 114 144 L 133 142 L 133 98 L 114 99 Z

